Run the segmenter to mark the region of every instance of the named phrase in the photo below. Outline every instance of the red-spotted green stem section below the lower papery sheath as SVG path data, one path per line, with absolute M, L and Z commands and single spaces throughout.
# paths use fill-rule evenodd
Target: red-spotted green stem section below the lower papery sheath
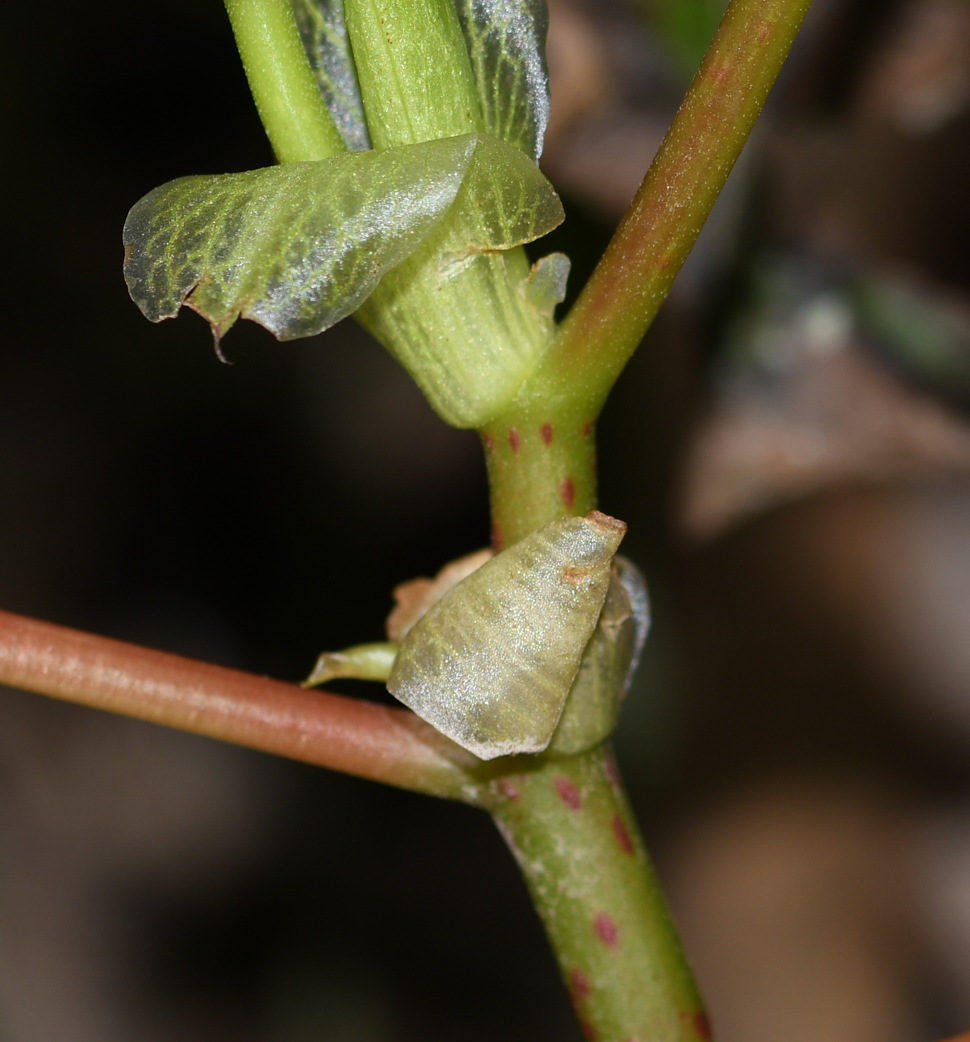
M 608 748 L 493 784 L 586 1037 L 700 1042 L 707 1020 Z

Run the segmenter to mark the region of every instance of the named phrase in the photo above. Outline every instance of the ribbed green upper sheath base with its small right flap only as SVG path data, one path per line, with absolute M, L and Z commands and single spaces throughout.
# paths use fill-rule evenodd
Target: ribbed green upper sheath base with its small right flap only
M 551 319 L 520 292 L 528 262 L 512 247 L 563 216 L 527 155 L 480 134 L 448 216 L 357 313 L 448 423 L 478 427 L 495 416 L 548 346 Z

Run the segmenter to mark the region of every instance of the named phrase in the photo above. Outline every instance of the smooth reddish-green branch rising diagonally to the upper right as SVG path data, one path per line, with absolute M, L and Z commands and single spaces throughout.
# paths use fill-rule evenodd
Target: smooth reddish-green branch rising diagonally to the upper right
M 520 395 L 591 418 L 670 291 L 762 110 L 811 0 L 731 0 L 623 219 Z

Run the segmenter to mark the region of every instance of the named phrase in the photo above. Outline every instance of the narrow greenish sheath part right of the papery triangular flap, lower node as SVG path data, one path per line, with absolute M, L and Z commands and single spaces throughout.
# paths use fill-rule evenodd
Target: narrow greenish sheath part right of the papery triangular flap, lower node
M 613 734 L 649 628 L 643 576 L 632 562 L 618 556 L 599 622 L 549 743 L 550 752 L 582 752 Z

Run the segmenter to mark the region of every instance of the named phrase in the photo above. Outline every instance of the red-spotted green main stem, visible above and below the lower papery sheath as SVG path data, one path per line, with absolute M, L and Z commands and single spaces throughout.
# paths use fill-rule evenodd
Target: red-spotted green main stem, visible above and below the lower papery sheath
M 596 505 L 590 414 L 554 404 L 519 406 L 481 431 L 499 545 Z M 501 769 L 490 810 L 525 876 L 587 1038 L 710 1038 L 608 749 L 522 756 Z

